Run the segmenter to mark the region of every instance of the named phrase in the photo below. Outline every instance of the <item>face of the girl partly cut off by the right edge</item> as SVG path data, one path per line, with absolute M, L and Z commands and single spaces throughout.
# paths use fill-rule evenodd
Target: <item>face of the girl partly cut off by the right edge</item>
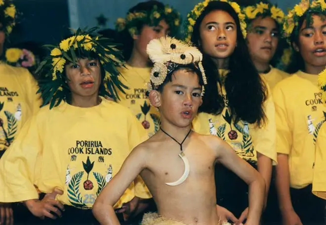
M 313 15 L 312 26 L 306 28 L 306 21 L 299 31 L 299 46 L 294 45 L 307 65 L 326 65 L 326 18 Z

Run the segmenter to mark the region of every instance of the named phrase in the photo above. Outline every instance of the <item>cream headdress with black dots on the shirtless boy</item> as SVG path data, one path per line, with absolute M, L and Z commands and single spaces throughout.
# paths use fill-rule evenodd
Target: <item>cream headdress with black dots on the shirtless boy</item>
M 147 84 L 149 91 L 157 90 L 164 82 L 167 74 L 187 64 L 194 64 L 202 73 L 204 85 L 207 84 L 202 65 L 203 55 L 196 47 L 170 37 L 162 37 L 150 41 L 146 50 L 154 63 L 150 82 Z M 204 95 L 204 85 L 202 87 L 202 96 Z

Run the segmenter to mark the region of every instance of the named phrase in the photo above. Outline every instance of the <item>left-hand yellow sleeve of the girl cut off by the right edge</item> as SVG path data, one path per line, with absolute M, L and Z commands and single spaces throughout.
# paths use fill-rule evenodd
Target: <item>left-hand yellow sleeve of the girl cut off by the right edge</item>
M 279 85 L 273 90 L 273 98 L 275 104 L 276 151 L 288 155 L 292 146 L 292 132 L 286 108 L 285 93 Z

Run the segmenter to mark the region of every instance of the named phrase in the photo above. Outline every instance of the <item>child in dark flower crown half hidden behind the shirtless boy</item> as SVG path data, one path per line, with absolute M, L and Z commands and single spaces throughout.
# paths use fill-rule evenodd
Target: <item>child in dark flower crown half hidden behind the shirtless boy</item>
M 146 95 L 146 83 L 149 82 L 152 67 L 146 46 L 152 39 L 167 34 L 175 36 L 179 24 L 179 13 L 156 0 L 138 3 L 128 10 L 126 19 L 117 20 L 127 61 L 120 72 L 122 82 L 129 88 L 125 93 L 119 92 L 119 103 L 131 109 L 149 136 L 158 131 L 160 117 Z

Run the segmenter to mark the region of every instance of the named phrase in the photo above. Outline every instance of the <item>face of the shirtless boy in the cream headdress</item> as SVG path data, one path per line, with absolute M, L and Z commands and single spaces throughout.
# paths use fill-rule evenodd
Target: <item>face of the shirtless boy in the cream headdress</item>
M 202 86 L 195 72 L 177 70 L 160 95 L 161 121 L 164 119 L 177 127 L 187 127 L 202 104 Z M 164 118 L 164 119 L 163 119 Z

